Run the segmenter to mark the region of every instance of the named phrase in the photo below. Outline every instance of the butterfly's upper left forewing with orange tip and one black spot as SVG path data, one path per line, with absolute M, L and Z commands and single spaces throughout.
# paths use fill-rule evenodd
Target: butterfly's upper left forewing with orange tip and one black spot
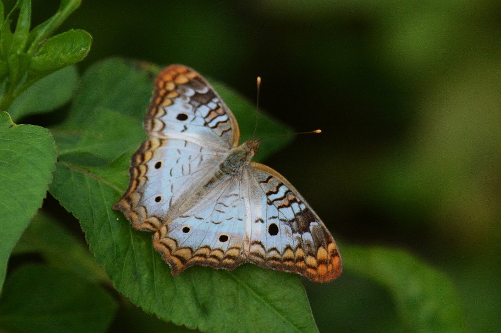
M 170 65 L 158 74 L 144 128 L 151 136 L 182 135 L 226 149 L 236 146 L 239 138 L 236 119 L 219 95 L 182 65 Z

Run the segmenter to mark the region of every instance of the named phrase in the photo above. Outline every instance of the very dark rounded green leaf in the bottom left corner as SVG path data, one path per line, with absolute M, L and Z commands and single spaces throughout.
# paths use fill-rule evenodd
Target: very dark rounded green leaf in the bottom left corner
M 16 269 L 0 298 L 0 327 L 18 332 L 106 332 L 117 304 L 97 284 L 44 265 Z

